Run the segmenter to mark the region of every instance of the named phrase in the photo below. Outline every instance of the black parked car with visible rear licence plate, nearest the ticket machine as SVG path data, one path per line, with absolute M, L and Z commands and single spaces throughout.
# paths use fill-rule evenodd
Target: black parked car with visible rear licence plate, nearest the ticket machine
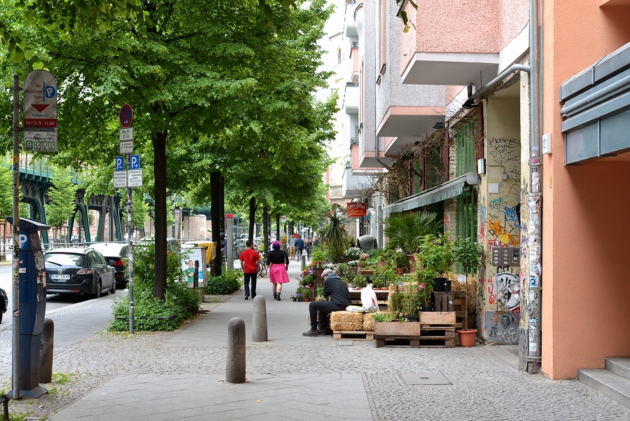
M 116 269 L 91 248 L 58 248 L 44 253 L 46 292 L 98 298 L 103 291 L 116 293 Z

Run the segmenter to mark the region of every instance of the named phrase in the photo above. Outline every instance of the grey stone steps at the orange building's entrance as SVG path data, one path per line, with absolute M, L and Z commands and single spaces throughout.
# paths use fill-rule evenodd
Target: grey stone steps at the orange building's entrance
M 604 367 L 577 370 L 577 379 L 630 408 L 630 358 L 606 358 Z

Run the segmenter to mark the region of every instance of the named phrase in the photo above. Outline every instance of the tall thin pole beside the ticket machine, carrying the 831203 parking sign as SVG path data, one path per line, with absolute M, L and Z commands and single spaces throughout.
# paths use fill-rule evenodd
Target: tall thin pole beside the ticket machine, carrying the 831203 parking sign
M 13 76 L 13 398 L 20 397 L 20 76 Z

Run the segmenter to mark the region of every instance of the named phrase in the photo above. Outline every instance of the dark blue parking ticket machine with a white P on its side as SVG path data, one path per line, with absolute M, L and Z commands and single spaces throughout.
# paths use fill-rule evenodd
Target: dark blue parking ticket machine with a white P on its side
M 13 225 L 13 218 L 6 218 Z M 41 331 L 46 314 L 46 275 L 40 231 L 50 226 L 20 218 L 20 394 L 38 398 L 48 391 L 39 385 Z

